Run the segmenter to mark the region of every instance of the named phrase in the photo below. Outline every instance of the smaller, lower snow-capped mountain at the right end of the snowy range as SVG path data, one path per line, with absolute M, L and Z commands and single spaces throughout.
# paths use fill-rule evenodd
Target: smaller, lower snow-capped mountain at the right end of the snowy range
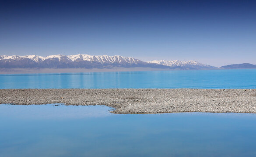
M 173 61 L 165 61 L 165 60 L 154 60 L 154 61 L 147 61 L 147 63 L 155 63 L 159 65 L 166 65 L 169 67 L 189 67 L 189 68 L 195 68 L 195 69 L 203 69 L 203 68 L 216 68 L 210 65 L 205 65 L 202 63 L 199 63 L 198 61 L 179 61 L 179 60 L 173 60 Z

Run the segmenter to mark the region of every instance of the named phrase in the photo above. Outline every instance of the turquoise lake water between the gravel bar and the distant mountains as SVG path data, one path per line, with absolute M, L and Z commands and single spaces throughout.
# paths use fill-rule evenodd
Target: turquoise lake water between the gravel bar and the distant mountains
M 256 69 L 0 75 L 10 88 L 256 89 Z

